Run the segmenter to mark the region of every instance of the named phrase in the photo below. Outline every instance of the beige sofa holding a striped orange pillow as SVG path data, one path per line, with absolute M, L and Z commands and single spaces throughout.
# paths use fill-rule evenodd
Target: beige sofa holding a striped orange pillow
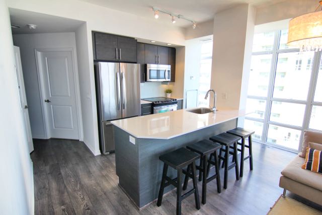
M 308 142 L 322 144 L 322 132 L 304 131 L 302 152 L 299 153 L 281 172 L 279 186 L 286 190 L 302 196 L 312 202 L 322 205 L 322 174 L 304 170 L 306 147 Z

